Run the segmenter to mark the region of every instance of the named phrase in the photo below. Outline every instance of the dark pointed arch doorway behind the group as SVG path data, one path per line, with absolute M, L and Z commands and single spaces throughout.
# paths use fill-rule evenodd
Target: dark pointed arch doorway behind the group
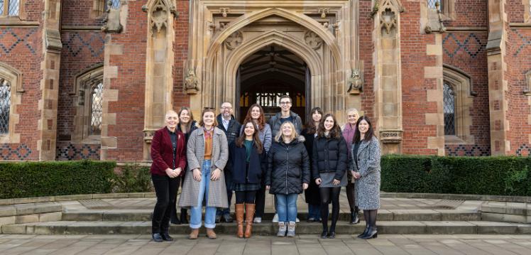
M 305 119 L 310 111 L 310 68 L 281 45 L 271 44 L 248 55 L 236 72 L 236 116 L 243 121 L 252 104 L 260 104 L 265 119 L 280 111 L 280 97 L 292 98 L 291 110 Z

